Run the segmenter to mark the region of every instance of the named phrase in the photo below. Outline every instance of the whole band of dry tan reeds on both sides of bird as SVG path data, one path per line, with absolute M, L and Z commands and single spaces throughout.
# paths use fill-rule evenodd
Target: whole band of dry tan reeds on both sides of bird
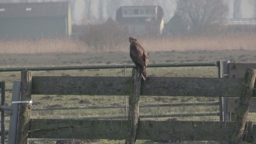
M 128 39 L 128 38 L 127 38 Z M 256 50 L 256 33 L 230 33 L 216 36 L 145 38 L 140 42 L 147 51 L 186 51 L 186 50 Z M 93 51 L 84 42 L 65 38 L 40 40 L 2 40 L 0 53 L 50 53 Z M 123 42 L 119 50 L 127 52 L 129 42 Z

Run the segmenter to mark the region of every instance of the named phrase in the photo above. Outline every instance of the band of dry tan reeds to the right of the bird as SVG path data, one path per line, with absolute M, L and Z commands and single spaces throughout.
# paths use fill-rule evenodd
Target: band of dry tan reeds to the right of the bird
M 162 38 L 141 40 L 148 51 L 186 50 L 256 50 L 256 34 L 225 34 L 184 38 Z

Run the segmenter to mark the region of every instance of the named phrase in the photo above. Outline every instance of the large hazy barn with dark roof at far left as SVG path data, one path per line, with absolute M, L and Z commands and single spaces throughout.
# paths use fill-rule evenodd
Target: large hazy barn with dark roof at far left
M 69 37 L 71 34 L 68 1 L 0 4 L 0 39 Z

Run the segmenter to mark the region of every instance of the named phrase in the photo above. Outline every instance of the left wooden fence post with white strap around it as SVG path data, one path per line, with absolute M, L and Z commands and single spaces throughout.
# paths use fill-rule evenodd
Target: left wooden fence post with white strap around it
M 21 94 L 16 144 L 28 144 L 28 127 L 31 112 L 32 72 L 21 72 Z M 22 102 L 23 101 L 23 102 Z

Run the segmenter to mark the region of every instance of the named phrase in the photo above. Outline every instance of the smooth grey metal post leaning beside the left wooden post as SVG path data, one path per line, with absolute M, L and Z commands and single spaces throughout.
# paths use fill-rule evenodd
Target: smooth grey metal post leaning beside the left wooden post
M 12 102 L 16 102 L 16 101 L 20 100 L 20 86 L 21 86 L 21 82 L 13 82 Z M 19 104 L 12 103 L 12 105 L 11 105 L 12 114 L 10 116 L 8 144 L 15 144 L 15 141 L 16 141 L 16 132 L 17 132 L 17 124 L 18 124 L 18 110 L 19 110 Z

